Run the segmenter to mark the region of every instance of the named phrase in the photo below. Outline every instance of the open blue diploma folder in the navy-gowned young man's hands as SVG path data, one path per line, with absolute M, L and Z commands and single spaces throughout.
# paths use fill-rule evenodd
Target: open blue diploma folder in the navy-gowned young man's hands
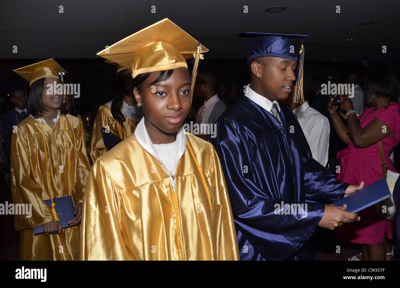
M 356 213 L 391 196 L 386 179 L 381 179 L 332 204 L 346 204 L 345 211 Z

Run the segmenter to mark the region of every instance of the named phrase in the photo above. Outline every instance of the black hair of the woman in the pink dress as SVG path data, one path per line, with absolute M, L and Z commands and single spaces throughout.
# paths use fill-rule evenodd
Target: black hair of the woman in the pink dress
M 391 72 L 379 71 L 370 74 L 366 88 L 371 89 L 376 97 L 389 97 L 392 102 L 396 102 L 399 97 L 398 83 Z

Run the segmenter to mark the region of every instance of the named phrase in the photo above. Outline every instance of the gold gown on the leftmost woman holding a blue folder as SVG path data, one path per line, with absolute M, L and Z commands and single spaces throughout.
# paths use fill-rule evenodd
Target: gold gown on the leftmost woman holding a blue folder
M 63 119 L 69 146 L 71 192 L 61 118 L 56 121 L 54 130 L 47 123 L 43 123 L 48 166 L 53 198 L 71 195 L 75 205 L 76 202 L 83 201 L 90 164 L 81 121 L 72 115 L 63 115 Z M 31 218 L 26 218 L 25 215 L 15 215 L 15 228 L 21 230 L 21 260 L 78 260 L 80 224 L 76 229 L 63 229 L 59 235 L 39 234 L 34 236 L 33 234 L 33 227 L 54 219 L 50 207 L 44 202 L 44 200 L 50 199 L 50 193 L 40 119 L 28 116 L 18 124 L 16 133 L 12 136 L 11 151 L 13 202 L 14 204 L 32 204 Z M 60 170 L 60 166 L 63 166 L 62 170 Z M 57 205 L 55 209 L 57 211 Z

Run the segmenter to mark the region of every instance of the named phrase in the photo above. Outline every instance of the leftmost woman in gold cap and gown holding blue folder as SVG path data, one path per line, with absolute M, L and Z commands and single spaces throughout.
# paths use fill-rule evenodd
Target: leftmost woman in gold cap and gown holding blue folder
M 32 216 L 15 216 L 20 232 L 21 260 L 78 260 L 82 201 L 90 164 L 82 122 L 60 113 L 62 92 L 54 59 L 14 70 L 29 81 L 28 112 L 11 142 L 11 188 L 14 204 L 32 204 Z M 62 207 L 44 200 L 71 196 L 75 206 L 72 227 L 62 229 Z M 43 225 L 44 233 L 34 235 Z

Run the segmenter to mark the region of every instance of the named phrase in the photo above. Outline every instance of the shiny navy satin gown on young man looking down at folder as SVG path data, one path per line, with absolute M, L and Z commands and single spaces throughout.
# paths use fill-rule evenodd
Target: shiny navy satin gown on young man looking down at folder
M 243 96 L 218 119 L 216 138 L 208 138 L 224 170 L 242 260 L 301 259 L 324 204 L 342 198 L 349 185 L 312 158 L 287 106 L 280 118 L 283 125 Z M 307 217 L 274 214 L 281 201 L 307 204 Z

